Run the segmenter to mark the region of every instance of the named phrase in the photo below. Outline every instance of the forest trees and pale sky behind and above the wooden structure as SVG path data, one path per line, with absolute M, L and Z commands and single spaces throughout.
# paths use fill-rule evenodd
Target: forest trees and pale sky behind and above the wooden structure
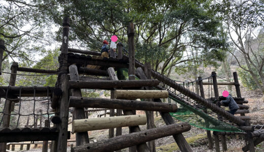
M 7 48 L 2 71 L 10 72 L 13 60 L 56 70 L 62 18 L 69 16 L 69 47 L 99 52 L 103 40 L 117 35 L 127 49 L 127 25 L 134 22 L 136 59 L 161 74 L 194 81 L 209 76 L 210 68 L 233 81 L 238 71 L 245 87 L 264 92 L 263 0 L 3 0 L 0 11 L 0 39 Z M 0 85 L 8 85 L 9 77 L 2 73 Z M 24 76 L 16 85 L 55 81 L 56 75 Z

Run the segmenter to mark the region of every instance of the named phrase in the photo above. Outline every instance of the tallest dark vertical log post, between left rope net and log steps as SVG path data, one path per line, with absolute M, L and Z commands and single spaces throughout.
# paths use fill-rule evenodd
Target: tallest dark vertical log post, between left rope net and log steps
M 60 54 L 60 72 L 61 72 L 61 100 L 59 105 L 59 117 L 61 123 L 57 125 L 59 130 L 57 151 L 67 151 L 68 119 L 69 119 L 69 77 L 67 75 L 68 62 L 68 43 L 69 43 L 69 17 L 63 18 L 62 23 L 62 45 Z

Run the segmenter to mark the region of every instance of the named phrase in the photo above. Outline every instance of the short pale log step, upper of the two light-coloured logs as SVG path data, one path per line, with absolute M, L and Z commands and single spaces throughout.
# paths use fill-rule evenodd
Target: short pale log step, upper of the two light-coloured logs
M 131 81 L 131 80 L 129 80 Z M 168 98 L 168 91 L 164 90 L 115 90 L 116 99 Z

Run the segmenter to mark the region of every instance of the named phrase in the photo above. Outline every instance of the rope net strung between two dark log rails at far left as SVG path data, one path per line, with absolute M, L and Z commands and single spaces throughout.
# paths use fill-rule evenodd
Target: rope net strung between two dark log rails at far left
M 17 98 L 10 97 L 12 95 L 11 87 L 0 90 L 5 92 L 5 95 L 1 96 L 0 103 L 0 129 L 1 128 L 24 128 L 24 127 L 44 127 L 45 120 L 50 121 L 50 117 L 55 115 L 51 109 L 51 89 L 50 87 L 43 87 L 42 95 L 38 95 L 36 92 L 36 86 L 30 97 L 23 97 L 23 87 L 19 87 L 19 93 Z M 10 92 L 10 93 L 9 93 Z M 13 102 L 14 101 L 14 102 Z M 10 105 L 11 113 L 7 112 L 7 106 Z M 6 110 L 5 110 L 6 109 Z M 4 121 L 9 119 L 9 125 Z M 8 127 L 9 126 L 9 127 Z

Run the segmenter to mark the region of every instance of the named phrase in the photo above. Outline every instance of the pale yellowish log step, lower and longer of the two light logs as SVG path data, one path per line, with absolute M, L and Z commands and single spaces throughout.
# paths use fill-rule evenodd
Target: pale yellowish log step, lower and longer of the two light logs
M 147 123 L 146 115 L 117 116 L 108 118 L 79 119 L 73 121 L 73 132 L 86 132 L 117 127 L 139 126 Z

